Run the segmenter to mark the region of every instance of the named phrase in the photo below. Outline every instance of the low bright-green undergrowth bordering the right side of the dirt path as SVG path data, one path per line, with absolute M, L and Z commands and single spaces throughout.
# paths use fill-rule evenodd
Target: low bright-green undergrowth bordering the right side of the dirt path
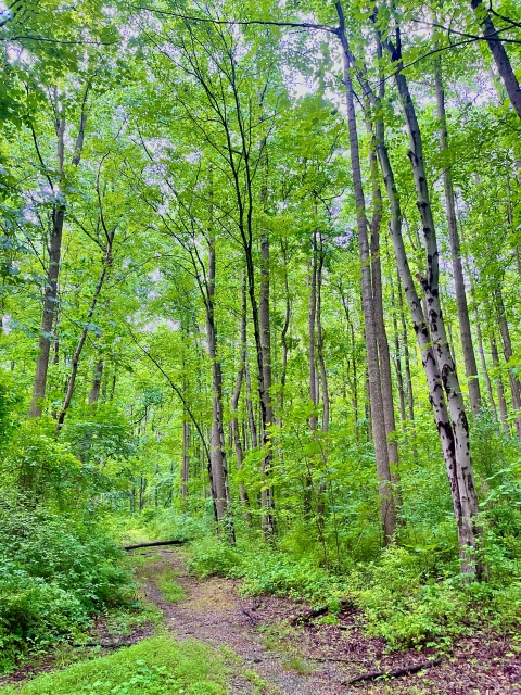
M 491 573 L 486 582 L 455 572 L 454 564 L 432 568 L 430 559 L 425 566 L 421 552 L 399 545 L 370 563 L 346 563 L 343 570 L 322 567 L 313 548 L 295 557 L 258 539 L 233 547 L 206 536 L 192 543 L 190 552 L 191 572 L 240 578 L 244 595 L 328 605 L 331 620 L 340 612 L 341 599 L 348 599 L 361 609 L 368 635 L 384 637 L 390 649 L 444 648 L 483 628 L 514 631 L 521 621 L 521 581 L 511 560 L 492 542 L 485 557 Z

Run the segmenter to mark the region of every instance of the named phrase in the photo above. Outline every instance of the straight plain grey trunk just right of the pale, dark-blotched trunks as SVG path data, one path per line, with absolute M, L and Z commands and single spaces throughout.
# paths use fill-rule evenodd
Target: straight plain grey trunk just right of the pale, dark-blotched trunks
M 439 60 L 434 61 L 434 81 L 436 86 L 437 118 L 440 121 L 440 150 L 442 154 L 446 154 L 448 151 L 447 118 L 445 113 L 445 92 L 443 89 L 442 70 Z M 480 382 L 478 380 L 478 365 L 475 364 L 474 346 L 472 344 L 469 307 L 467 304 L 463 268 L 460 257 L 453 175 L 448 166 L 443 170 L 443 185 L 445 188 L 445 208 L 447 213 L 448 239 L 450 243 L 454 288 L 456 292 L 456 307 L 458 311 L 459 334 L 461 338 L 465 372 L 468 379 L 470 408 L 472 413 L 476 415 L 481 409 L 481 391 Z

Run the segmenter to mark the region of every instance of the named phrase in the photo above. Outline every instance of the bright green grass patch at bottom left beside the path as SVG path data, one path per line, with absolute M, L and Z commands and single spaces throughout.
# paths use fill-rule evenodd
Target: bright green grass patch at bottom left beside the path
M 0 687 L 0 695 L 226 695 L 226 684 L 227 669 L 209 647 L 157 636 L 21 686 Z

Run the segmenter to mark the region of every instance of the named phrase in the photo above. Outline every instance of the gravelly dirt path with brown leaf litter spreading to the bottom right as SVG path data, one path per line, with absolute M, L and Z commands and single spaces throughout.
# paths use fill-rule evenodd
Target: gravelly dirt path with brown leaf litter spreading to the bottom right
M 422 664 L 436 654 L 386 654 L 383 640 L 364 635 L 356 609 L 346 608 L 338 624 L 316 620 L 291 627 L 306 614 L 306 605 L 270 596 L 243 598 L 238 581 L 194 578 L 182 551 L 162 551 L 149 559 L 138 569 L 145 596 L 163 611 L 177 640 L 192 637 L 220 649 L 232 664 L 232 695 L 521 693 L 521 659 L 511 649 L 511 635 L 483 632 L 461 640 L 437 666 L 419 673 L 350 685 L 361 673 Z M 165 576 L 178 587 L 174 601 L 165 598 Z

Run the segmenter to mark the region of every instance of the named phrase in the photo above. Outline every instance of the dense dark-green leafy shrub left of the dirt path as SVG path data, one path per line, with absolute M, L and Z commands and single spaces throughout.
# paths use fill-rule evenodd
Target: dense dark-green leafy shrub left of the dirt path
M 96 525 L 45 507 L 0 506 L 0 668 L 84 631 L 130 596 L 120 551 Z

